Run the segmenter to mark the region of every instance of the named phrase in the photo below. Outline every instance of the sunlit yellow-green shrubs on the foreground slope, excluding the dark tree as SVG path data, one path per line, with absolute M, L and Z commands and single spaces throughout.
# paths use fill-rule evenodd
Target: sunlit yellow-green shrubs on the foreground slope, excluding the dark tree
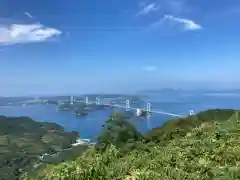
M 210 112 L 216 113 L 209 116 L 211 118 L 222 113 Z M 38 177 L 41 177 L 41 180 L 240 179 L 239 112 L 235 111 L 224 117 L 227 119 L 219 117 L 220 121 L 203 118 L 202 123 L 191 130 L 189 127 L 192 126 L 192 122 L 189 122 L 185 135 L 181 134 L 180 127 L 175 131 L 172 127 L 171 132 L 181 135 L 169 138 L 168 143 L 164 145 L 157 141 L 149 141 L 146 144 L 137 138 L 135 148 L 124 156 L 118 155 L 121 148 L 117 148 L 117 145 L 121 143 L 110 140 L 109 142 L 115 144 L 109 143 L 104 151 L 90 149 L 75 161 L 48 166 L 38 172 L 39 176 L 31 178 L 25 174 L 23 179 L 35 180 Z M 176 126 L 173 121 L 169 124 Z M 184 121 L 184 124 L 187 124 L 187 121 Z

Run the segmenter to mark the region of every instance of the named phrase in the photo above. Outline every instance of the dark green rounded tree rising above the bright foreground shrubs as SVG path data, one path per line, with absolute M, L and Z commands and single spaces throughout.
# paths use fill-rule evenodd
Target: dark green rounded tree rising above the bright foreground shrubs
M 113 144 L 122 152 L 128 152 L 135 147 L 136 141 L 142 139 L 142 134 L 127 121 L 123 114 L 113 113 L 99 135 L 96 148 L 104 151 L 110 144 Z

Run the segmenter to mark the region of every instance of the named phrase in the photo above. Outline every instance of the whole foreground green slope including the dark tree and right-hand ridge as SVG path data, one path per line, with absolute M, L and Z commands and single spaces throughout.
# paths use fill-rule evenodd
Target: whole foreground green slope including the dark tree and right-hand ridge
M 240 179 L 240 113 L 209 110 L 172 120 L 145 136 L 113 114 L 98 144 L 75 161 L 47 165 L 23 179 Z

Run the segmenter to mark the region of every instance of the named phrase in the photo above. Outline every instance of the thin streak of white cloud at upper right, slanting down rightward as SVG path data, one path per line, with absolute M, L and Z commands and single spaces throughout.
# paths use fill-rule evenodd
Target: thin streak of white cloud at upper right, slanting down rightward
M 202 29 L 202 27 L 199 24 L 195 23 L 194 21 L 192 21 L 190 19 L 178 18 L 178 17 L 174 17 L 172 15 L 164 15 L 164 20 L 170 20 L 170 21 L 174 21 L 176 23 L 180 23 L 183 25 L 185 30 Z

